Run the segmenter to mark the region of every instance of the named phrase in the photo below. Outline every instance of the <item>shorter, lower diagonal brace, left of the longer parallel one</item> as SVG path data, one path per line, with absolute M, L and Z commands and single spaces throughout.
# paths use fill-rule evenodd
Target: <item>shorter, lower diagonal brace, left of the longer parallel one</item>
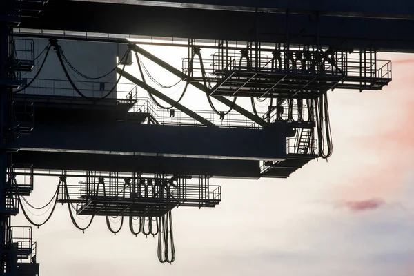
M 151 86 L 148 86 L 144 83 L 144 81 L 141 81 L 140 79 L 137 79 L 136 77 L 130 75 L 128 72 L 122 72 L 121 68 L 117 68 L 117 73 L 120 74 L 122 77 L 128 79 L 129 81 L 132 81 L 133 83 L 137 84 L 137 86 L 140 86 L 143 89 L 148 88 L 148 92 L 150 92 L 152 95 L 155 95 L 159 99 L 165 101 L 166 103 L 170 104 L 171 106 L 174 106 L 175 108 L 181 110 L 181 112 L 184 112 L 186 115 L 192 117 L 196 121 L 199 121 L 201 124 L 204 124 L 205 126 L 215 126 L 212 122 L 208 121 L 204 117 L 201 117 L 196 112 L 193 112 L 192 110 L 186 108 L 181 103 L 177 103 L 177 101 L 174 101 L 170 97 L 167 97 L 163 93 L 159 92 L 155 88 L 152 88 Z

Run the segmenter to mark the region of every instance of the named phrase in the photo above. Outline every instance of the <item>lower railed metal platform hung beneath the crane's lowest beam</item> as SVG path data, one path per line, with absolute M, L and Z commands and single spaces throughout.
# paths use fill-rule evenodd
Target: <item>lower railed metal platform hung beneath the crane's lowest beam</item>
M 69 198 L 59 193 L 59 202 L 77 204 L 78 215 L 161 217 L 175 207 L 215 207 L 221 201 L 221 187 L 210 186 L 208 177 L 198 177 L 198 183 L 182 176 L 137 176 L 124 183 L 117 174 L 108 181 L 87 179 L 68 186 Z

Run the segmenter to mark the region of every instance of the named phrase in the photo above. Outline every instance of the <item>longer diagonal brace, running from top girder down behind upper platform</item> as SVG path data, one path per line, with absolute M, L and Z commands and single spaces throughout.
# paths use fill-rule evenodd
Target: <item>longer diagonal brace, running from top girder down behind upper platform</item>
M 152 55 L 150 52 L 147 52 L 143 48 L 137 46 L 136 44 L 130 44 L 130 48 L 132 50 L 135 50 L 139 52 L 144 57 L 150 59 L 151 61 L 157 63 L 162 68 L 172 72 L 172 74 L 176 75 L 177 77 L 180 77 L 181 79 L 188 79 L 189 76 L 175 68 L 174 66 L 170 66 L 170 64 L 166 63 L 165 61 L 159 59 L 158 57 L 155 57 L 155 55 Z M 195 88 L 198 88 L 199 90 L 205 92 L 207 95 L 210 95 L 210 90 L 204 86 L 204 84 L 199 82 L 191 82 Z M 217 101 L 220 101 L 221 103 L 224 103 L 226 106 L 231 107 L 233 106 L 233 101 L 230 101 L 229 99 L 226 99 L 222 96 L 212 96 L 213 98 L 217 99 Z M 264 121 L 264 119 L 259 118 L 255 116 L 253 113 L 249 112 L 248 110 L 242 108 L 241 106 L 238 106 L 237 104 L 234 104 L 233 109 L 239 112 L 240 114 L 244 115 L 248 119 L 254 121 L 256 124 L 259 124 L 260 126 L 266 126 L 268 123 Z

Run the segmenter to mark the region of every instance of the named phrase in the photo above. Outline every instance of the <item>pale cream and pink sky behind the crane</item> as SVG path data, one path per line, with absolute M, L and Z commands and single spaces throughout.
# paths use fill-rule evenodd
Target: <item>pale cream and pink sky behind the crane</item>
M 186 55 L 146 49 L 177 67 Z M 414 55 L 380 58 L 393 61 L 393 81 L 383 90 L 328 93 L 334 146 L 328 160 L 288 179 L 212 179 L 222 187 L 219 206 L 173 210 L 173 264 L 159 263 L 156 238 L 135 237 L 126 226 L 113 235 L 101 217 L 82 233 L 59 205 L 48 224 L 34 229 L 41 275 L 412 276 Z M 184 103 L 206 107 L 201 95 L 192 89 Z M 57 182 L 38 177 L 28 200 L 46 203 Z M 13 224 L 29 225 L 23 215 Z

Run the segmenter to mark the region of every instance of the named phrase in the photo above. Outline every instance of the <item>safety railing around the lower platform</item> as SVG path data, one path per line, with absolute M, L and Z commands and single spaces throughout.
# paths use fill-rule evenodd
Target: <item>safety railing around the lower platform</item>
M 179 179 L 170 185 L 169 179 L 140 178 L 136 183 L 125 184 L 117 181 L 91 183 L 81 181 L 79 185 L 68 186 L 70 201 L 76 203 L 77 211 L 82 210 L 89 201 L 108 204 L 115 202 L 137 202 L 140 204 L 177 204 L 178 206 L 214 206 L 221 201 L 221 187 L 207 181 L 188 183 Z M 66 195 L 59 193 L 59 201 L 67 201 Z M 212 205 L 213 204 L 213 205 Z

